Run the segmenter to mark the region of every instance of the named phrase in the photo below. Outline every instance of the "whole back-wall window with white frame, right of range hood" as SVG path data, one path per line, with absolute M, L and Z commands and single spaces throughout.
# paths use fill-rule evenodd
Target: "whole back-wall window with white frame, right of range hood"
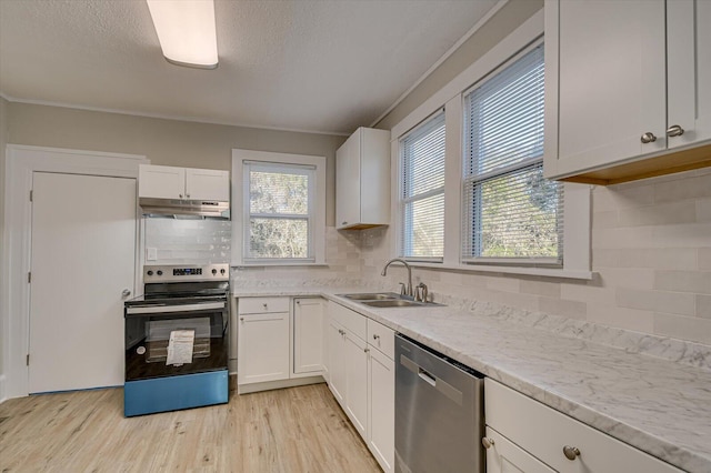
M 232 150 L 234 265 L 323 263 L 326 159 Z

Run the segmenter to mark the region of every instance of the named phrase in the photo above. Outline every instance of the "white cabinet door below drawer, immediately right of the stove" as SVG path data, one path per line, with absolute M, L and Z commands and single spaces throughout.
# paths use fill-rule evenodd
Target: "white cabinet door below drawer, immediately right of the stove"
M 289 312 L 239 316 L 237 383 L 289 379 Z

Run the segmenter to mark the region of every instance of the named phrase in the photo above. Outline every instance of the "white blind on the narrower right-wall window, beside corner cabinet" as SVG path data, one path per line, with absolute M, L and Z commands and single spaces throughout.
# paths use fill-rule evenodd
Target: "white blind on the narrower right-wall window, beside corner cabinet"
M 444 254 L 444 111 L 400 139 L 400 255 Z

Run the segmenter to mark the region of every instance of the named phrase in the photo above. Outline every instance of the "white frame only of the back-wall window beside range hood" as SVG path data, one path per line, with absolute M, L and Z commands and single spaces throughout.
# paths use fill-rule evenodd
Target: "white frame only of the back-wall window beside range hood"
M 250 258 L 248 256 L 249 231 L 249 192 L 244 172 L 244 163 L 253 162 L 284 164 L 287 167 L 310 167 L 313 170 L 313 197 L 310 207 L 309 225 L 313 229 L 309 234 L 309 258 Z M 313 195 L 311 194 L 313 193 Z M 326 264 L 326 157 L 308 154 L 276 153 L 232 149 L 232 259 L 233 266 L 293 266 Z

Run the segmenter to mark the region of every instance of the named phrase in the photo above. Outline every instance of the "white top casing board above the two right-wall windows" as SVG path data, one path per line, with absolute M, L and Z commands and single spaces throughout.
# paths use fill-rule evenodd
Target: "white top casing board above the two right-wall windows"
M 540 38 L 542 33 L 543 11 L 540 10 L 521 24 L 515 31 L 491 48 L 489 52 L 482 56 L 469 68 L 464 69 L 447 85 L 434 92 L 400 123 L 395 124 L 391 130 L 390 139 L 393 141 L 399 140 L 402 134 L 417 125 L 427 115 L 431 114 L 434 110 L 442 107 L 451 99 L 460 95 L 462 91 L 469 89 L 474 82 L 495 70 L 521 49 Z

